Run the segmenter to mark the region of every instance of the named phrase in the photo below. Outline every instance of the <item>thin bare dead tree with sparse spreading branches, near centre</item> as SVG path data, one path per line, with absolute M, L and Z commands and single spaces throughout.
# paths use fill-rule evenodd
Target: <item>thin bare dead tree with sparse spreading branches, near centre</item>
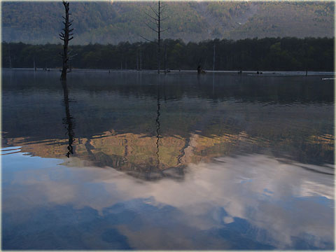
M 161 32 L 167 31 L 169 28 L 167 29 L 161 29 L 161 22 L 166 20 L 168 17 L 166 18 L 162 18 L 162 13 L 165 11 L 165 7 L 166 6 L 161 6 L 160 5 L 160 0 L 158 1 L 158 10 L 155 10 L 152 6 L 150 6 L 151 10 L 152 10 L 152 15 L 148 14 L 145 12 L 145 14 L 148 16 L 148 18 L 150 18 L 148 21 L 151 23 L 151 25 L 149 23 L 145 23 L 145 25 L 151 29 L 152 31 L 154 31 L 156 34 L 158 34 L 158 73 L 160 73 L 160 69 L 161 69 Z M 155 26 L 153 28 L 153 25 Z M 144 36 L 141 36 L 141 38 L 144 38 Z M 144 38 L 146 41 L 150 41 L 155 43 L 154 41 L 151 41 L 148 38 Z

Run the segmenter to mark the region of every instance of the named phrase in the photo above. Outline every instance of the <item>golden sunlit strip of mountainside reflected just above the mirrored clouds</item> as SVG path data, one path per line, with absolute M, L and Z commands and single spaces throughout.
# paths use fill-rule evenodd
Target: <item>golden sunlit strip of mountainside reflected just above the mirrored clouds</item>
M 39 142 L 28 142 L 25 139 L 8 139 L 7 144 L 22 146 L 22 152 L 31 153 L 43 158 L 64 158 L 66 140 L 50 139 Z M 305 161 L 309 157 L 322 158 L 324 162 L 332 162 L 334 140 L 331 135 L 311 136 L 302 150 L 290 139 L 269 141 L 261 137 L 250 137 L 246 132 L 223 134 L 206 137 L 201 134 L 190 134 L 188 139 L 182 137 L 160 138 L 159 169 L 183 167 L 190 163 L 210 162 L 213 158 L 231 155 L 237 151 L 258 152 L 262 148 L 272 146 L 274 154 L 288 150 L 293 158 Z M 78 139 L 75 156 L 89 161 L 90 165 L 113 167 L 124 171 L 145 172 L 148 167 L 157 167 L 156 137 L 145 134 L 116 134 L 113 130 L 92 137 Z M 277 153 L 279 152 L 279 153 Z M 307 160 L 306 160 L 307 161 Z

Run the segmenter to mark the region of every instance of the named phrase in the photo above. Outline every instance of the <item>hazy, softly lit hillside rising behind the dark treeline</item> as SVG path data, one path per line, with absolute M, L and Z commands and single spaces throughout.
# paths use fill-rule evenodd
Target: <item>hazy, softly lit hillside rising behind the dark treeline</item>
M 168 2 L 163 38 L 202 41 L 266 36 L 334 36 L 335 3 L 318 2 Z M 148 2 L 79 2 L 70 9 L 75 28 L 73 43 L 118 43 L 154 38 L 144 24 Z M 2 40 L 58 43 L 62 2 L 2 2 Z

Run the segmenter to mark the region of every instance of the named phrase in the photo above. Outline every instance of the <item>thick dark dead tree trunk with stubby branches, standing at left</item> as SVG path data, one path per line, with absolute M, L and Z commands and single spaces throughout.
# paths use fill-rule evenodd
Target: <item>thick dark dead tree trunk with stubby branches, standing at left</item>
M 69 45 L 69 41 L 73 39 L 73 33 L 71 33 L 73 29 L 70 29 L 73 20 L 69 21 L 69 15 L 71 15 L 71 13 L 69 13 L 69 2 L 66 2 L 63 0 L 63 5 L 65 8 L 65 18 L 62 16 L 62 18 L 64 18 L 64 21 L 63 21 L 64 28 L 59 33 L 59 38 L 62 41 L 64 41 L 63 52 L 61 53 L 61 56 L 63 59 L 63 69 L 62 69 L 61 80 L 66 80 L 66 73 L 67 73 L 67 70 L 69 69 L 68 62 L 69 60 L 72 59 L 72 57 L 70 57 L 70 51 L 68 51 L 68 45 Z

